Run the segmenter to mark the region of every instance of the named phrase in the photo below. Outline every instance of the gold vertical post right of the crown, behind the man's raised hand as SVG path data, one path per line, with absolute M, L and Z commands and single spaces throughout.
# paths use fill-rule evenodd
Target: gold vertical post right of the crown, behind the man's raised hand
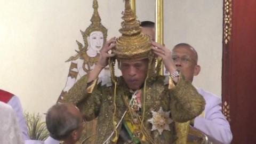
M 163 23 L 164 23 L 164 18 L 163 18 L 163 0 L 156 0 L 156 13 L 155 13 L 155 29 L 156 29 L 156 42 L 159 44 L 164 44 L 164 31 L 163 31 Z M 163 75 L 163 62 L 162 58 L 158 58 L 156 61 L 156 65 L 160 65 L 158 69 L 158 74 Z

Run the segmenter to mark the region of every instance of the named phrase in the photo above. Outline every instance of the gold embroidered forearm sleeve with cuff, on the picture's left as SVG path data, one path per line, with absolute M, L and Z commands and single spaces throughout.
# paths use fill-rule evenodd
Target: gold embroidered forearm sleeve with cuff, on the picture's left
M 71 102 L 77 105 L 77 103 L 81 102 L 83 99 L 86 99 L 86 97 L 92 93 L 98 80 L 95 79 L 93 82 L 87 84 L 87 77 L 87 74 L 81 77 L 68 91 L 68 93 L 63 94 L 58 102 Z

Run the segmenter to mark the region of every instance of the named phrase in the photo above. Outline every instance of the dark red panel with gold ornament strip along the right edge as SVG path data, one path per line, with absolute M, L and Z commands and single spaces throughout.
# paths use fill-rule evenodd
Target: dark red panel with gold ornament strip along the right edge
M 222 110 L 232 143 L 256 143 L 256 0 L 223 1 Z

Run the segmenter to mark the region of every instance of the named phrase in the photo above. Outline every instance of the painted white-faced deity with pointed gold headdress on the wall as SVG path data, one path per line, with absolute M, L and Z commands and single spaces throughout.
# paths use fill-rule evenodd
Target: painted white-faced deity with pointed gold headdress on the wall
M 91 18 L 91 25 L 86 28 L 85 31 L 81 30 L 84 45 L 76 41 L 79 51 L 77 51 L 75 56 L 70 57 L 66 61 L 71 61 L 71 65 L 67 83 L 62 93 L 68 92 L 78 79 L 94 68 L 95 63 L 98 61 L 102 45 L 106 42 L 107 29 L 101 24 L 101 19 L 98 13 L 98 2 L 96 0 L 93 1 L 93 9 L 94 12 Z M 107 71 L 108 68 L 104 69 L 99 75 L 100 81 L 104 84 L 110 82 L 110 76 L 108 76 L 109 73 Z M 106 80 L 106 78 L 109 79 Z

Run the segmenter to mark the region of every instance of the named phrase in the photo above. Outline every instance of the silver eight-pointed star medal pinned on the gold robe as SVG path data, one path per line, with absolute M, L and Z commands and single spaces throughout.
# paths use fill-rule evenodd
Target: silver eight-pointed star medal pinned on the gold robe
M 158 130 L 159 134 L 161 135 L 164 130 L 170 131 L 169 124 L 173 122 L 170 118 L 171 111 L 163 111 L 162 107 L 156 112 L 151 111 L 153 117 L 148 119 L 148 122 L 152 124 L 151 131 Z

